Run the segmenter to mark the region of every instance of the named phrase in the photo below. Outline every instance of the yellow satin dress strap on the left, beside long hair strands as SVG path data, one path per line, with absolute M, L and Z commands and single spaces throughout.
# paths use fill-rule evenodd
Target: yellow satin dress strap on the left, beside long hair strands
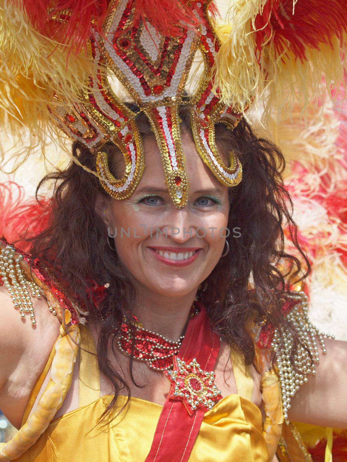
M 83 325 L 80 325 L 80 332 L 79 407 L 82 407 L 100 397 L 100 372 L 93 335 Z

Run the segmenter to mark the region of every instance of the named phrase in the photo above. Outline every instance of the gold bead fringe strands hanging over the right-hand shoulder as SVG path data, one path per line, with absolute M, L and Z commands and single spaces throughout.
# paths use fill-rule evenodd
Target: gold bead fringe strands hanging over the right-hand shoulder
M 285 327 L 280 328 L 284 340 L 284 345 L 281 347 L 279 330 L 275 329 L 271 346 L 273 351 L 277 353 L 279 380 L 282 389 L 283 417 L 288 424 L 288 410 L 291 407 L 290 402 L 292 396 L 295 395 L 303 383 L 308 381 L 308 374 L 316 373 L 315 363 L 319 362 L 316 336 L 318 336 L 323 354 L 327 353 L 323 337 L 326 336 L 332 339 L 335 337 L 334 335 L 320 332 L 319 329 L 310 322 L 308 317 L 307 295 L 304 292 L 297 292 L 296 294 L 287 295 L 287 297 L 297 300 L 297 303 L 287 315 L 287 319 L 297 332 L 302 344 L 305 345 L 310 352 L 309 354 L 300 344 L 296 346 L 294 364 L 297 371 L 295 371 L 290 361 L 291 349 L 293 346 L 292 335 Z M 312 366 L 310 366 L 310 355 L 313 359 Z

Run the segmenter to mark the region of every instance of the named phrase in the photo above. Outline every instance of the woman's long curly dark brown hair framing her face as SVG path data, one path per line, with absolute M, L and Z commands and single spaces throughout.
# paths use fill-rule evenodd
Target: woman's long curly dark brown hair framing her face
M 180 118 L 181 129 L 191 132 L 188 105 L 180 107 Z M 142 112 L 136 116 L 136 123 L 143 137 L 154 136 Z M 231 251 L 201 285 L 197 298 L 203 300 L 212 325 L 223 340 L 230 346 L 241 347 L 246 363 L 251 364 L 254 345 L 246 328 L 250 316 L 254 316 L 255 310 L 274 328 L 287 324 L 292 331 L 282 314 L 281 298 L 292 283 L 309 274 L 310 265 L 297 243 L 292 203 L 281 176 L 285 159 L 279 149 L 258 138 L 245 120 L 234 130 L 217 124 L 216 142 L 222 151 L 235 151 L 242 163 L 242 182 L 229 188 L 228 221 L 229 230 L 240 228 L 242 232 L 237 238 L 228 238 Z M 95 170 L 95 158 L 86 147 L 75 142 L 72 149 L 82 165 Z M 119 158 L 123 158 L 118 148 L 108 146 L 108 156 L 111 170 L 117 170 Z M 50 224 L 30 239 L 31 254 L 55 268 L 56 278 L 66 282 L 70 296 L 88 312 L 87 322 L 100 324 L 99 368 L 114 386 L 114 397 L 101 419 L 111 412 L 121 389 L 126 389 L 130 396 L 128 384 L 109 363 L 107 353 L 110 341 L 115 351 L 116 335 L 112 334 L 120 328 L 126 312 L 131 312 L 136 291 L 117 252 L 107 245 L 106 225 L 95 211 L 98 194 L 112 200 L 99 179 L 71 162 L 66 170 L 45 176 L 37 186 L 37 196 L 48 180 L 55 184 Z M 305 261 L 304 269 L 297 257 L 285 252 L 284 225 Z M 91 281 L 102 285 L 111 280 L 107 297 L 97 308 L 91 298 Z M 296 338 L 295 332 L 293 336 Z M 130 359 L 130 371 L 131 367 Z

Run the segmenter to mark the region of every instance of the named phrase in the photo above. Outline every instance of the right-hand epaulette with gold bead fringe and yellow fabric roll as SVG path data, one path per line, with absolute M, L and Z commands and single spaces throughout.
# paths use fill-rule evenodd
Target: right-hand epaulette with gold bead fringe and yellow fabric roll
M 285 423 L 305 462 L 312 462 L 300 433 L 288 419 L 288 410 L 291 398 L 300 386 L 308 381 L 310 374 L 316 373 L 315 365 L 319 362 L 316 337 L 322 353 L 326 354 L 324 336 L 332 339 L 334 336 L 323 334 L 310 322 L 307 295 L 302 291 L 286 293 L 282 311 L 292 331 L 297 334 L 297 344 L 294 345 L 293 335 L 286 325 L 274 329 L 271 323 L 262 320 L 251 328 L 255 346 L 254 365 L 262 374 L 261 390 L 266 413 L 263 435 L 269 449 L 269 460 L 272 460 L 282 435 L 282 424 Z M 273 370 L 274 353 L 276 371 Z

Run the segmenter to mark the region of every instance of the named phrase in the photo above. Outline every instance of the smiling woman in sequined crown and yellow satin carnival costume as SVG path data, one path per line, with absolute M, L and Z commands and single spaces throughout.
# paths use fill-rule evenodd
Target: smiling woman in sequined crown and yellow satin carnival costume
M 88 45 L 104 103 L 92 74 L 88 103 L 77 100 L 72 113 L 55 94 L 47 111 L 77 140 L 75 162 L 39 185 L 56 181 L 42 211 L 47 223 L 30 239 L 32 257 L 1 243 L 0 341 L 8 353 L 0 407 L 20 427 L 2 460 L 271 461 L 282 432 L 282 456 L 287 444 L 309 460 L 290 420 L 346 427 L 347 347 L 323 340 L 305 295 L 293 291 L 307 272 L 284 251 L 284 220 L 297 244 L 284 159 L 208 79 L 183 95 L 193 48 L 205 50 L 207 69 L 218 51 L 217 40 L 207 41 L 207 5 L 172 12 L 176 25 L 192 12 L 199 34 L 188 27 L 155 42 L 138 4 L 123 3 L 109 6 L 104 21 L 113 46 L 100 28 Z M 174 96 L 153 82 L 146 94 L 135 45 L 148 52 L 150 72 L 158 49 L 174 56 L 165 74 L 170 89 L 178 75 Z M 105 91 L 99 49 L 136 104 Z

